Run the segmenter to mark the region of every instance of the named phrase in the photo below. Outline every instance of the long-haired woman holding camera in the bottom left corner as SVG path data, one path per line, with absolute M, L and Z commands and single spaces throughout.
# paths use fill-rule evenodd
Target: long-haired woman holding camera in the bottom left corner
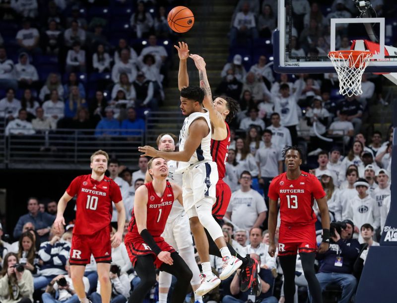
M 33 278 L 30 271 L 20 265 L 16 253 L 9 252 L 4 257 L 0 272 L 1 303 L 32 303 Z

